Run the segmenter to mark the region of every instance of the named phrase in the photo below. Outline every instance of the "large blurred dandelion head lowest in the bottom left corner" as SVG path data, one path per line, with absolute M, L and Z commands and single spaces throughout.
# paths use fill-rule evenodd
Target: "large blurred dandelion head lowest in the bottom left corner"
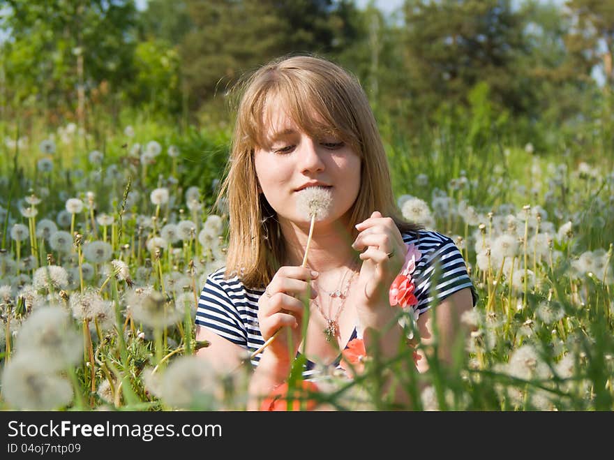
M 73 387 L 66 378 L 41 371 L 45 355 L 31 350 L 16 353 L 2 373 L 3 399 L 9 406 L 23 410 L 53 410 L 73 400 Z

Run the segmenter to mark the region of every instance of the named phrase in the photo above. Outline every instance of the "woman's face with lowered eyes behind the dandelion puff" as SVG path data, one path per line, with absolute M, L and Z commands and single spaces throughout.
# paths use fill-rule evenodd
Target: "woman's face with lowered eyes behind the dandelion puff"
M 283 110 L 269 119 L 267 147 L 255 149 L 254 163 L 262 193 L 280 223 L 287 219 L 308 225 L 304 213 L 297 209 L 297 191 L 307 186 L 326 186 L 332 193 L 331 209 L 322 223 L 343 218 L 360 188 L 358 154 L 334 135 L 310 137 Z

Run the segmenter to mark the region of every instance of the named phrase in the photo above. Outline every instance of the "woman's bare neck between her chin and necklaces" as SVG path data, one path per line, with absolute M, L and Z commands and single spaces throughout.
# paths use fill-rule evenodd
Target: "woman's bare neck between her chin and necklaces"
M 298 266 L 303 263 L 309 224 L 297 225 L 290 221 L 280 221 L 280 228 L 287 247 L 287 265 Z M 307 267 L 317 272 L 328 272 L 341 267 L 350 267 L 358 259 L 352 248 L 350 225 L 341 221 L 327 225 L 315 223 L 307 254 Z

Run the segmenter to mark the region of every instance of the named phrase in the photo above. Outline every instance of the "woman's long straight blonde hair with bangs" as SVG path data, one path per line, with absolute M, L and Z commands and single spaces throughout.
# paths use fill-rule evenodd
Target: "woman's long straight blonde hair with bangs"
M 227 175 L 217 201 L 227 198 L 230 218 L 225 276 L 237 275 L 246 287 L 261 288 L 285 260 L 279 223 L 259 193 L 254 166 L 255 148 L 266 146 L 267 102 L 272 100 L 305 133 L 333 133 L 361 158 L 361 187 L 350 210 L 351 222 L 364 221 L 377 210 L 393 218 L 401 232 L 419 229 L 398 216 L 373 112 L 350 73 L 320 57 L 283 57 L 250 75 L 240 84 L 239 96 Z

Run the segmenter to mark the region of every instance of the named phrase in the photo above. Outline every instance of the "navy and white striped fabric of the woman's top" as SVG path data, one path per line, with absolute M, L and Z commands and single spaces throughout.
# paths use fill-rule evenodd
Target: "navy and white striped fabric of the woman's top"
M 443 299 L 463 288 L 470 288 L 474 305 L 477 295 L 467 274 L 461 251 L 449 238 L 438 232 L 421 230 L 417 235 L 403 235 L 406 244 L 414 244 L 421 258 L 412 274 L 418 299 L 414 309 L 421 314 Z M 206 327 L 232 343 L 253 352 L 264 343 L 258 326 L 258 299 L 262 289 L 246 288 L 237 276 L 224 279 L 224 268 L 207 276 L 200 293 L 196 324 Z M 434 288 L 433 288 L 434 287 Z M 350 340 L 357 336 L 357 331 Z M 252 360 L 257 366 L 260 355 Z M 336 364 L 340 362 L 340 357 Z M 313 373 L 313 362 L 308 361 L 305 377 Z

